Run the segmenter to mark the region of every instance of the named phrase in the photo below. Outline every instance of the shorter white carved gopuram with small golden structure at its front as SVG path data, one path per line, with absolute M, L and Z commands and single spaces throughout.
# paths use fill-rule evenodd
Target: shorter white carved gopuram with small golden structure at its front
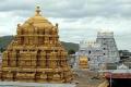
M 80 42 L 80 49 L 75 53 L 75 63 L 74 63 L 74 69 L 79 67 L 79 58 L 81 55 L 86 55 L 88 59 L 88 64 L 90 64 L 90 70 L 98 70 L 99 69 L 99 63 L 104 62 L 105 59 L 103 57 L 103 50 L 100 48 L 100 45 L 96 42 L 85 42 L 81 41 Z

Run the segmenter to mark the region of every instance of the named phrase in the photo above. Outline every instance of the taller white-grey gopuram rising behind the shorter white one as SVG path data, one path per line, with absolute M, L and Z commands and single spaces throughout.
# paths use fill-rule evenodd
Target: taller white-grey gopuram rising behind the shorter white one
M 98 32 L 96 42 L 103 49 L 106 63 L 119 63 L 119 51 L 112 32 Z

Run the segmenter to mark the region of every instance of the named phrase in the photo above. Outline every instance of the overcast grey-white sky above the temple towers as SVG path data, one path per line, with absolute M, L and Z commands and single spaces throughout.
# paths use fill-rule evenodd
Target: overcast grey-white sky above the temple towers
M 36 5 L 59 23 L 62 41 L 95 40 L 98 30 L 112 30 L 118 48 L 131 50 L 131 0 L 0 0 L 0 36 L 15 35 Z

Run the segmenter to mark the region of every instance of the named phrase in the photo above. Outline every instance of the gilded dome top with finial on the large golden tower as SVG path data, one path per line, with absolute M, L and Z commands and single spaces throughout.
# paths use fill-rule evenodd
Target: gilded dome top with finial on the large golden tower
M 28 25 L 34 25 L 38 28 L 52 28 L 53 25 L 40 14 L 39 7 L 36 8 L 35 15 L 29 17 L 24 24 L 23 27 L 27 27 Z

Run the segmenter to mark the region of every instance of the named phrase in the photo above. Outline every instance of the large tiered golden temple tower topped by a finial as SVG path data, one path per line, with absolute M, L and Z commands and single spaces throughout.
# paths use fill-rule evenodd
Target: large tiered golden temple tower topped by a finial
M 43 17 L 37 7 L 35 16 L 17 24 L 16 36 L 3 52 L 1 80 L 70 83 L 67 54 L 59 41 L 58 24 Z

